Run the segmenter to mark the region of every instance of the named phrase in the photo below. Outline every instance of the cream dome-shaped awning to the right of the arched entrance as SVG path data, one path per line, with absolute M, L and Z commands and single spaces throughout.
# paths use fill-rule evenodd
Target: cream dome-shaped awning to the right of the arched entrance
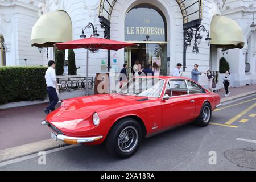
M 217 48 L 240 48 L 245 46 L 243 31 L 234 20 L 221 15 L 215 15 L 212 18 L 210 26 L 211 44 Z

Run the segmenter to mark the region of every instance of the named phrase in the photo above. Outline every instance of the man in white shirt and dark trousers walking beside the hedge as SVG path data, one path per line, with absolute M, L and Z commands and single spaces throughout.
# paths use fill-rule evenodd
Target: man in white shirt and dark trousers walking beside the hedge
M 59 90 L 59 86 L 57 85 L 56 81 L 56 73 L 55 73 L 55 62 L 49 61 L 48 63 L 48 69 L 46 71 L 46 85 L 47 85 L 47 93 L 49 96 L 49 106 L 44 109 L 44 113 L 47 115 L 50 113 L 50 111 L 55 111 L 55 106 L 59 102 L 59 97 L 56 92 L 56 89 Z

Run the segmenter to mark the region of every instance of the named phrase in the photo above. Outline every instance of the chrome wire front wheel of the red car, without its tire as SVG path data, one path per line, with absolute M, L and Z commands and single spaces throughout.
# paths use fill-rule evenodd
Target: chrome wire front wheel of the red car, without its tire
M 118 146 L 122 152 L 129 153 L 138 144 L 138 130 L 133 126 L 128 126 L 121 131 L 118 137 Z

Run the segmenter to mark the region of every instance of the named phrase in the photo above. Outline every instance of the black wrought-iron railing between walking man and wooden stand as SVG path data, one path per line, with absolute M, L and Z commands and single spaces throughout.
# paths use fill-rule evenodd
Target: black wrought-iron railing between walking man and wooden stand
M 86 77 L 57 78 L 58 84 L 61 84 L 59 92 L 71 92 L 75 90 L 86 90 Z M 88 78 L 89 89 L 93 88 L 93 77 Z

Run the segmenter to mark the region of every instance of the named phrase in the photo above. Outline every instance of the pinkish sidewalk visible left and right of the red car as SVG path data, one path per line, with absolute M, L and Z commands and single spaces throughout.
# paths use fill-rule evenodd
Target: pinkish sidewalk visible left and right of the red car
M 256 85 L 230 88 L 230 92 L 231 94 L 228 98 L 224 97 L 225 89 L 217 92 L 222 98 L 222 103 L 256 93 Z M 9 159 L 9 156 L 11 158 L 13 155 L 13 151 L 17 150 L 22 151 L 23 153 L 20 152 L 22 154 L 31 154 L 31 150 L 26 150 L 26 148 L 34 148 L 32 151 L 35 153 L 36 150 L 48 150 L 49 148 L 61 146 L 61 144 L 52 143 L 50 130 L 41 125 L 41 122 L 46 117 L 43 109 L 47 105 L 45 103 L 13 109 L 0 109 L 0 138 L 2 138 L 0 142 L 0 158 L 2 155 Z M 43 146 L 46 148 L 43 148 Z M 19 154 L 15 153 L 13 156 L 19 156 Z

